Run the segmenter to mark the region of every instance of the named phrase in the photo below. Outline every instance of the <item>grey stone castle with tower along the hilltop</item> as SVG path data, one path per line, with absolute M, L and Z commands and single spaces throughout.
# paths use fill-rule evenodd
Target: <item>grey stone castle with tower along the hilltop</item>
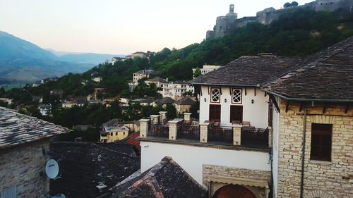
M 226 16 L 219 16 L 216 20 L 216 25 L 213 30 L 206 32 L 206 39 L 220 38 L 227 35 L 229 32 L 234 32 L 239 27 L 243 27 L 251 22 L 259 22 L 265 25 L 270 24 L 273 20 L 277 20 L 282 13 L 287 12 L 289 9 L 309 8 L 314 11 L 337 11 L 339 9 L 345 11 L 352 11 L 353 0 L 316 0 L 305 4 L 303 6 L 282 8 L 276 10 L 275 8 L 265 8 L 263 11 L 256 13 L 256 16 L 244 17 L 238 19 L 238 14 L 234 13 L 234 4 L 229 5 L 229 13 Z

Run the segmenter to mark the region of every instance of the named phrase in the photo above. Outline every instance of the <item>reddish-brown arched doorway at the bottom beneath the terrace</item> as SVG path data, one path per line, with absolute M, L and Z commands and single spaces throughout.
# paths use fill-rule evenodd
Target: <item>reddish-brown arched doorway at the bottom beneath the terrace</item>
M 217 190 L 213 198 L 256 198 L 256 196 L 241 185 L 226 185 Z

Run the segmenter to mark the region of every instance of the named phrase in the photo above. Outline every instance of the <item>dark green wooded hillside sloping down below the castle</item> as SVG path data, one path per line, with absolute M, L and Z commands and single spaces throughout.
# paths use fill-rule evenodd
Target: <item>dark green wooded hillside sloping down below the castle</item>
M 273 53 L 279 56 L 308 56 L 353 35 L 353 14 L 314 12 L 299 9 L 288 12 L 270 25 L 249 23 L 231 35 L 207 39 L 183 49 L 162 49 L 148 52 L 147 58 L 128 59 L 114 64 L 104 63 L 82 74 L 66 75 L 57 82 L 35 88 L 35 94 L 49 89 L 64 89 L 66 95 L 85 96 L 95 87 L 105 87 L 109 97 L 116 94 L 129 97 L 127 80 L 141 69 L 158 70 L 169 80 L 190 80 L 192 68 L 203 64 L 223 65 L 240 56 Z M 92 82 L 91 73 L 102 76 Z M 85 83 L 82 83 L 85 82 Z M 87 82 L 87 83 L 86 83 Z M 45 90 L 45 91 L 44 91 Z

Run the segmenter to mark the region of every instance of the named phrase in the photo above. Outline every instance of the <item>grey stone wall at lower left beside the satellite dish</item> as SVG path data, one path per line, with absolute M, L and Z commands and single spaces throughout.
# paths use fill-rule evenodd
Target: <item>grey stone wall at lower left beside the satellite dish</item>
M 0 151 L 0 191 L 16 186 L 17 197 L 49 195 L 49 179 L 45 174 L 49 140 L 37 141 Z

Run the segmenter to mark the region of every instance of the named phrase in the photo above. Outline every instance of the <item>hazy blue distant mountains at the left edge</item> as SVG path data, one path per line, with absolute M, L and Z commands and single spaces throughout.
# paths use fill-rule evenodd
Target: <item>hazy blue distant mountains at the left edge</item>
M 119 56 L 54 52 L 0 31 L 0 85 L 30 83 L 66 73 L 83 73 L 98 63 Z

